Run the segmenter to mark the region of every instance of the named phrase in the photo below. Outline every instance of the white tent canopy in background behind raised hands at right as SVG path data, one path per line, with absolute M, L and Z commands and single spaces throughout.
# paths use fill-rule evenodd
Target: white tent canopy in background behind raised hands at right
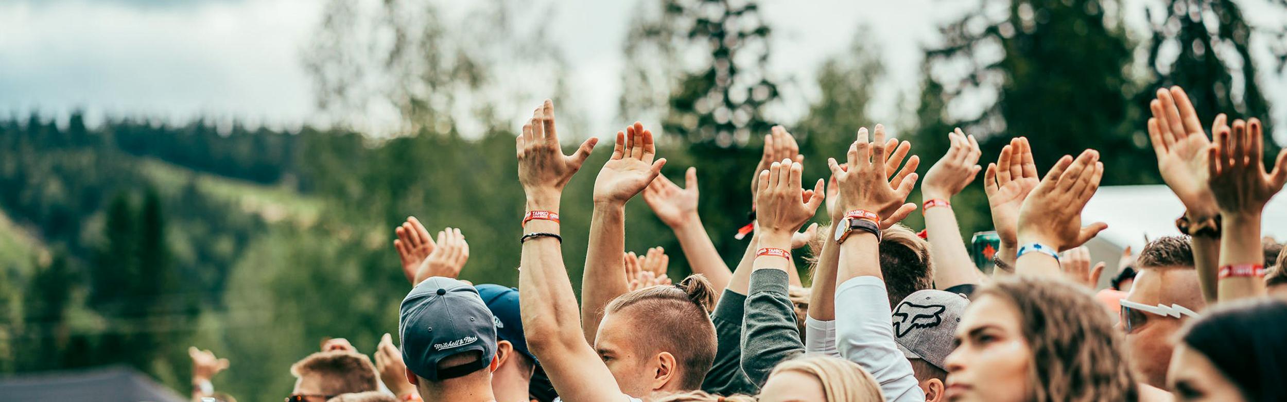
M 1107 277 L 1109 272 L 1116 272 L 1117 259 L 1126 246 L 1139 254 L 1145 236 L 1179 236 L 1175 219 L 1183 214 L 1184 205 L 1166 186 L 1107 186 L 1100 187 L 1090 202 L 1086 202 L 1081 223 L 1108 224 L 1108 229 L 1099 232 L 1099 237 L 1088 244 L 1093 260 L 1108 263 Z M 1287 240 L 1287 196 L 1269 201 L 1260 229 L 1264 236 L 1272 236 L 1279 242 Z

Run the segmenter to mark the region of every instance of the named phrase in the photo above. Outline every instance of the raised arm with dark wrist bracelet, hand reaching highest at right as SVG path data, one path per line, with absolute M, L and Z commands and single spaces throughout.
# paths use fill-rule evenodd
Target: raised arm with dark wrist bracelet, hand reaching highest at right
M 1220 259 L 1220 210 L 1215 205 L 1215 195 L 1206 186 L 1210 175 L 1206 153 L 1211 149 L 1211 139 L 1202 131 L 1202 121 L 1189 95 L 1179 86 L 1158 89 L 1157 99 L 1148 106 L 1153 112 L 1148 120 L 1148 139 L 1157 155 L 1157 170 L 1166 187 L 1184 204 L 1179 228 L 1193 240 L 1193 263 L 1202 298 L 1214 304 Z M 1228 130 L 1225 121 L 1223 113 L 1215 116 L 1211 133 Z

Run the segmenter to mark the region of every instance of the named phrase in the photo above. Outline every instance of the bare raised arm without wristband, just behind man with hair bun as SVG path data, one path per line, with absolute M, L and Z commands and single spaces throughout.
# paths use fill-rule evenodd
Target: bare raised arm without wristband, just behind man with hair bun
M 665 158 L 653 160 L 656 146 L 653 131 L 634 122 L 616 131 L 613 157 L 595 178 L 595 211 L 589 220 L 589 249 L 580 282 L 580 318 L 586 340 L 595 343 L 604 307 L 629 291 L 625 278 L 625 202 L 638 195 L 662 173 Z

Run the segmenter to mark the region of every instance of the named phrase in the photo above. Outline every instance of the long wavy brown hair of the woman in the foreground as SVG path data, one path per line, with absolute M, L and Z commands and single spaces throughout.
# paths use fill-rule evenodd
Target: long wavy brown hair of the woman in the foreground
M 1032 353 L 1028 401 L 1138 401 L 1135 375 L 1121 349 L 1122 334 L 1084 287 L 1058 280 L 1010 277 L 981 287 L 1019 311 Z

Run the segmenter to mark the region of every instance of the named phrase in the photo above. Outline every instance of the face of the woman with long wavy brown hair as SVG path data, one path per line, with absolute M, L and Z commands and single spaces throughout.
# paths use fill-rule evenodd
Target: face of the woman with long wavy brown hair
M 1032 350 L 1013 303 L 983 295 L 969 304 L 956 326 L 956 350 L 947 366 L 947 401 L 1021 402 L 1032 394 Z

